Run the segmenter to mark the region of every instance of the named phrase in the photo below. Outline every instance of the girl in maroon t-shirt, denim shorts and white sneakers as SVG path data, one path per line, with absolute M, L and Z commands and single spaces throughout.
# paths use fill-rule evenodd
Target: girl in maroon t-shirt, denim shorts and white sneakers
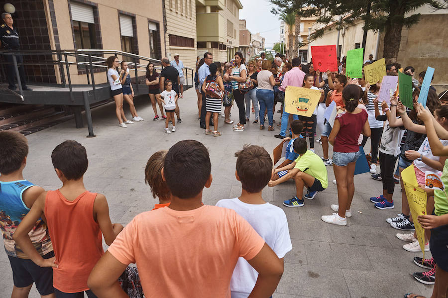
M 348 85 L 342 91 L 345 112 L 338 114 L 330 133 L 329 142 L 333 148 L 333 170 L 335 171 L 338 205 L 332 209 L 338 213 L 323 215 L 322 220 L 337 225 L 347 225 L 345 216 L 351 216 L 350 204 L 354 194 L 353 176 L 359 157 L 358 137 L 362 133 L 370 136 L 367 112 L 359 107 L 360 89 Z

